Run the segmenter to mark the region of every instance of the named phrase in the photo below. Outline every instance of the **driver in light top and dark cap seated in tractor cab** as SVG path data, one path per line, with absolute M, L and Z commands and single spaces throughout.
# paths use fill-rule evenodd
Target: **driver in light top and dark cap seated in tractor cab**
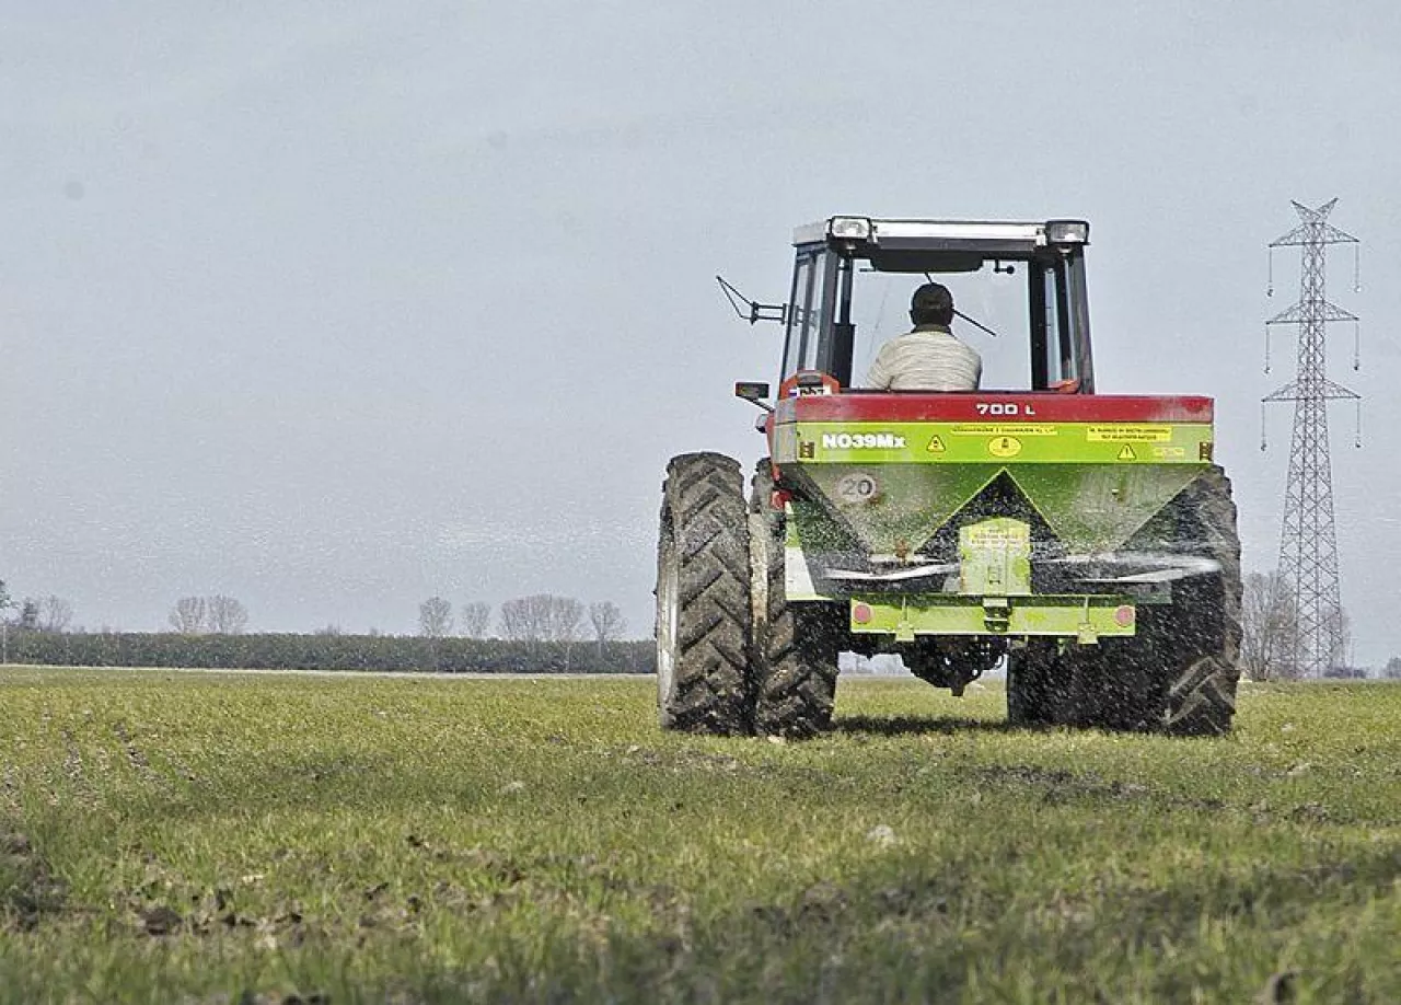
M 912 331 L 881 346 L 866 378 L 877 391 L 976 391 L 982 357 L 948 331 L 954 297 L 941 283 L 925 283 L 909 300 Z

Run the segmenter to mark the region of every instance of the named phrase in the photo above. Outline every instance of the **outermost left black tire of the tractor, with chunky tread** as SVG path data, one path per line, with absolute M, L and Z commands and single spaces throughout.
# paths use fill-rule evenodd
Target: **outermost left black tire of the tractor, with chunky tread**
M 740 464 L 667 465 L 657 547 L 657 711 L 663 729 L 750 732 L 750 531 Z

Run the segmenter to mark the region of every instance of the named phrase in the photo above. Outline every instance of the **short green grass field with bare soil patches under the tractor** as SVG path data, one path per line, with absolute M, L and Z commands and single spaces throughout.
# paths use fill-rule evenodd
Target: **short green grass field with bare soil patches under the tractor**
M 1401 1002 L 1401 687 L 1247 685 L 1226 740 L 1002 715 L 0 670 L 0 1001 Z

